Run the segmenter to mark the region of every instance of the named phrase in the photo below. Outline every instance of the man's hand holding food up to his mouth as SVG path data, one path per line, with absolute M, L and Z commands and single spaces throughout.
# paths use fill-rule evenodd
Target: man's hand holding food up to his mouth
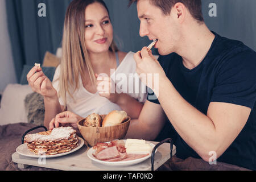
M 152 90 L 157 91 L 159 88 L 159 80 L 166 77 L 163 68 L 158 60 L 152 55 L 152 51 L 148 51 L 147 47 L 143 47 L 134 55 L 137 63 L 137 73 L 143 84 L 147 85 Z

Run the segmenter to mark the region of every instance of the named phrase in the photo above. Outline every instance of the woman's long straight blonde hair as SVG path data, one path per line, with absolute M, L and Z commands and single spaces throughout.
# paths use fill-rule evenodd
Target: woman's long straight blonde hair
M 79 76 L 84 78 L 85 69 L 88 70 L 90 81 L 96 88 L 96 77 L 92 63 L 85 46 L 85 17 L 84 12 L 88 5 L 99 2 L 108 11 L 102 0 L 74 0 L 70 3 L 65 15 L 62 49 L 63 55 L 60 62 L 59 93 L 58 96 L 67 106 L 67 93 L 72 96 L 79 86 Z M 109 13 L 109 11 L 108 11 Z M 114 41 L 109 47 L 110 51 L 118 51 Z M 73 98 L 74 100 L 74 98 Z

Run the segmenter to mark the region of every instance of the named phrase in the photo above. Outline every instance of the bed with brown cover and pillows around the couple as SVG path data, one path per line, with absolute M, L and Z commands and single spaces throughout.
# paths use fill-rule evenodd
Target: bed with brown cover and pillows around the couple
M 47 56 L 47 55 L 46 55 Z M 48 55 L 49 56 L 49 55 Z M 57 64 L 56 64 L 57 65 Z M 55 65 L 55 66 L 56 66 Z M 44 72 L 52 79 L 55 68 L 51 64 Z M 43 97 L 34 93 L 26 82 L 26 73 L 31 66 L 24 66 L 23 76 L 19 84 L 9 84 L 6 86 L 1 99 L 0 107 L 0 170 L 25 170 L 25 171 L 48 171 L 42 167 L 28 167 L 19 169 L 18 164 L 11 160 L 11 155 L 15 152 L 16 147 L 21 144 L 22 135 L 29 129 L 43 125 L 44 104 Z M 33 133 L 38 133 L 43 129 L 37 129 Z M 231 164 L 217 162 L 216 165 L 210 165 L 202 159 L 188 158 L 181 160 L 176 156 L 168 160 L 158 170 L 247 170 Z

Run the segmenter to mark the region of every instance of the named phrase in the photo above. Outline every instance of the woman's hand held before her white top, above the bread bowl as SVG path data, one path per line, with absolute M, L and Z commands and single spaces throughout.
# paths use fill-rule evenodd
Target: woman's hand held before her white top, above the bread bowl
M 115 92 L 115 84 L 114 81 L 108 76 L 98 76 L 97 78 L 97 90 L 100 96 L 108 98 L 111 102 L 117 103 L 119 93 Z

